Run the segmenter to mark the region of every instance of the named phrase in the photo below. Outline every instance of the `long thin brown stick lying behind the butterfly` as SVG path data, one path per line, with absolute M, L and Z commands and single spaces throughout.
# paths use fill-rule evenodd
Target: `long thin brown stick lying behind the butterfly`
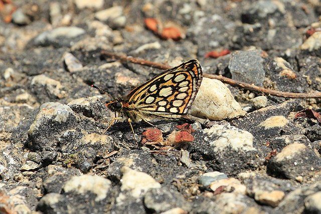
M 115 54 L 112 52 L 107 52 L 107 51 L 101 51 L 101 54 L 103 56 L 107 56 L 112 59 L 116 60 L 121 60 L 125 62 L 131 62 L 135 64 L 140 64 L 152 68 L 157 68 L 157 69 L 162 69 L 162 70 L 167 70 L 170 69 L 171 67 L 168 65 L 160 64 L 160 63 L 155 63 L 151 62 L 148 60 L 143 60 L 143 59 L 138 59 L 134 57 L 127 57 L 127 56 L 122 56 L 119 54 Z M 223 83 L 229 84 L 231 86 L 247 89 L 250 91 L 255 91 L 267 95 L 272 95 L 276 97 L 286 97 L 286 98 L 301 98 L 301 99 L 306 99 L 306 98 L 321 98 L 321 92 L 315 92 L 315 93 L 290 93 L 290 92 L 282 92 L 282 91 L 276 91 L 276 90 L 270 90 L 262 87 L 258 87 L 252 84 L 248 83 L 243 83 L 239 82 L 236 80 L 232 80 L 227 77 L 219 76 L 219 75 L 214 75 L 214 74 L 203 74 L 204 77 L 211 78 L 211 79 L 217 79 L 222 81 Z

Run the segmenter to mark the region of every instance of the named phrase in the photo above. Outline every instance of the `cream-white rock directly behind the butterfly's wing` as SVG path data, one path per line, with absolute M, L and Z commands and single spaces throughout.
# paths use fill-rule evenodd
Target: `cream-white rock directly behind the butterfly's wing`
M 201 87 L 188 112 L 210 120 L 223 120 L 246 114 L 231 91 L 219 80 L 203 78 Z

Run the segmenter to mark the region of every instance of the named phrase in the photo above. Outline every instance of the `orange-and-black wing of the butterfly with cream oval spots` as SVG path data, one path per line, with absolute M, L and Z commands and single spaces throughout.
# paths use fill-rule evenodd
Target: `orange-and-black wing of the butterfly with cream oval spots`
M 202 78 L 199 61 L 190 60 L 153 77 L 124 99 L 140 114 L 178 118 L 191 107 Z

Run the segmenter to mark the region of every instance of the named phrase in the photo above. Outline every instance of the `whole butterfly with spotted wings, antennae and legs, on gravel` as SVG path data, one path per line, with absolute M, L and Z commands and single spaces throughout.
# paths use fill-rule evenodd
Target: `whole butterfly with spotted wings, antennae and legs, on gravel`
M 95 85 L 91 87 L 109 96 L 111 100 L 106 101 L 106 107 L 112 112 L 118 112 L 120 116 L 115 116 L 108 128 L 115 120 L 125 116 L 134 134 L 131 121 L 143 120 L 154 126 L 146 117 L 170 120 L 187 118 L 187 112 L 196 97 L 202 79 L 203 73 L 199 61 L 189 60 L 156 75 L 124 97 L 116 98 Z

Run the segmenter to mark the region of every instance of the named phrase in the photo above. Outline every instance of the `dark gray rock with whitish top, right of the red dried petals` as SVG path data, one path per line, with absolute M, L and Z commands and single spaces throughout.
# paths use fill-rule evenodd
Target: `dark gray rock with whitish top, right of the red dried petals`
M 194 132 L 190 144 L 192 159 L 206 161 L 206 166 L 227 175 L 236 175 L 240 169 L 257 168 L 261 152 L 253 146 L 251 133 L 233 126 L 213 125 L 202 132 Z M 235 168 L 235 165 L 238 168 Z

